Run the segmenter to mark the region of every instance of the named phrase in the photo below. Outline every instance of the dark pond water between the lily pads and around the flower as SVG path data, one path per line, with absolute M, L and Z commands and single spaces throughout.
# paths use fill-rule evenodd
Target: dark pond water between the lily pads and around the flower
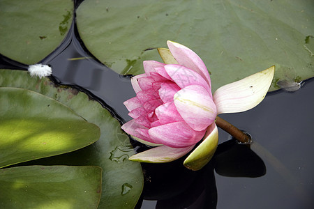
M 121 121 L 130 120 L 123 105 L 135 95 L 129 77 L 96 61 L 76 37 L 73 30 L 43 63 L 61 83 L 87 88 Z M 27 68 L 4 57 L 0 67 Z M 219 130 L 216 155 L 201 171 L 185 169 L 181 160 L 142 164 L 144 200 L 137 208 L 312 208 L 313 90 L 309 79 L 299 91 L 269 93 L 250 111 L 221 115 L 251 134 L 253 144 L 237 144 Z

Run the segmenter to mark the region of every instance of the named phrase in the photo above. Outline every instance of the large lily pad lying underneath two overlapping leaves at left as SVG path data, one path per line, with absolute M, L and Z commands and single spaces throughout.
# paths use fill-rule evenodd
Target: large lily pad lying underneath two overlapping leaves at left
M 90 100 L 87 94 L 67 86 L 54 87 L 49 79 L 32 78 L 25 71 L 0 70 L 0 86 L 27 88 L 70 107 L 89 123 L 100 127 L 100 139 L 73 155 L 58 158 L 58 164 L 96 165 L 103 168 L 103 192 L 100 208 L 134 208 L 143 187 L 140 163 L 131 162 L 134 155 L 129 138 L 110 111 Z M 49 159 L 47 159 L 49 160 Z M 69 164 L 67 163 L 67 164 Z

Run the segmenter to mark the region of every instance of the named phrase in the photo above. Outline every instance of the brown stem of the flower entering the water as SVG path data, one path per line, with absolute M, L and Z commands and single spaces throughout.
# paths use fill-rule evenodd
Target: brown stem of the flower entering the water
M 249 137 L 247 134 L 244 134 L 244 132 L 239 130 L 239 128 L 235 127 L 231 123 L 223 120 L 223 118 L 217 116 L 215 123 L 218 127 L 231 134 L 232 137 L 234 137 L 238 141 L 241 141 L 242 143 L 248 143 L 251 141 L 251 137 Z

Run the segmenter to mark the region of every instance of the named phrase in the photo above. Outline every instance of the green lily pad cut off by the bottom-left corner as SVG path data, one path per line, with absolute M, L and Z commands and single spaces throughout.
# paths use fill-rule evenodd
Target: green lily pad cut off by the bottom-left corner
M 31 166 L 1 169 L 0 191 L 1 208 L 97 208 L 101 168 Z

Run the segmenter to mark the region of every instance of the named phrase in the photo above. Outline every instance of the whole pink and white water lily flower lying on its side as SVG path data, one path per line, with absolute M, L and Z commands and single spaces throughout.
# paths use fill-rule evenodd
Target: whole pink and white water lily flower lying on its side
M 209 72 L 195 52 L 177 42 L 158 49 L 165 63 L 144 61 L 144 74 L 132 77 L 136 96 L 124 102 L 133 120 L 122 129 L 149 146 L 129 160 L 171 162 L 202 143 L 184 161 L 204 167 L 218 145 L 218 114 L 246 111 L 259 104 L 274 77 L 274 66 L 211 93 Z

